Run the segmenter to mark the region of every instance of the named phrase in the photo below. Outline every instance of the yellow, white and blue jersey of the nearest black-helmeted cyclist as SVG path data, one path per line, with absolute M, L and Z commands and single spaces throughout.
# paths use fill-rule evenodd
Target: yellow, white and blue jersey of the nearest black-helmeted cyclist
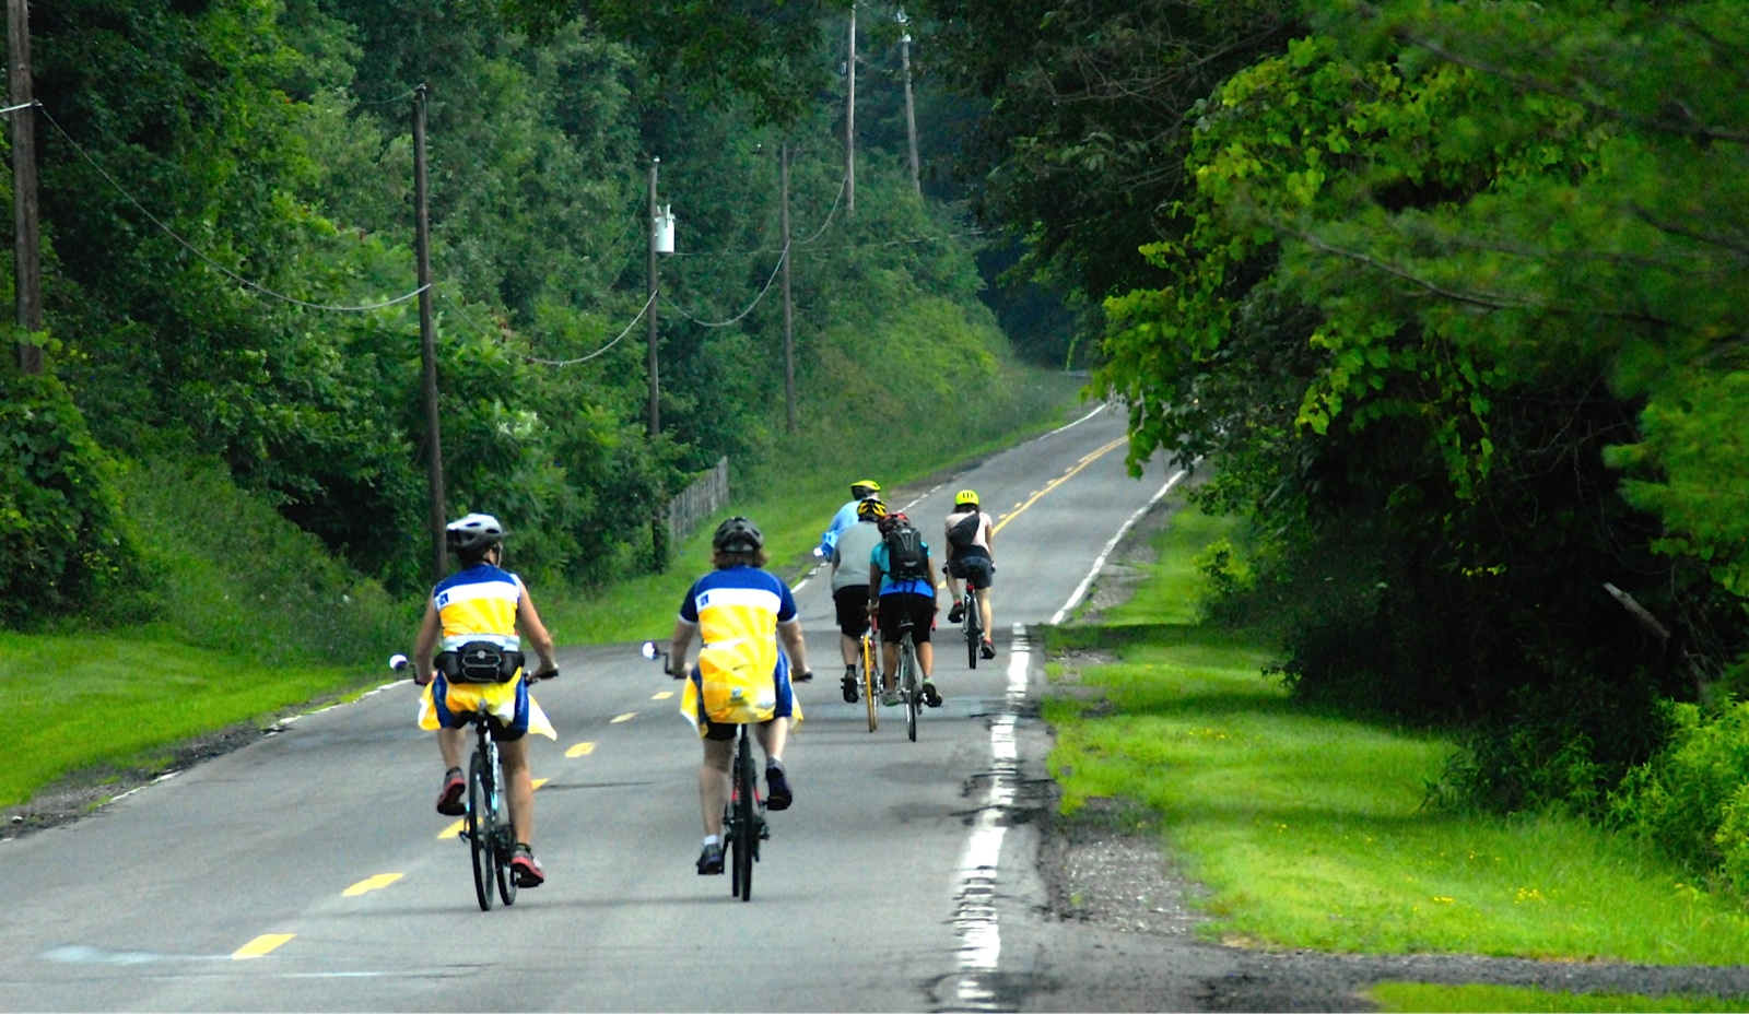
M 789 684 L 789 656 L 777 624 L 796 619 L 796 598 L 757 566 L 700 577 L 680 601 L 680 621 L 698 624 L 703 647 L 680 698 L 680 713 L 700 734 L 710 722 L 801 720 Z

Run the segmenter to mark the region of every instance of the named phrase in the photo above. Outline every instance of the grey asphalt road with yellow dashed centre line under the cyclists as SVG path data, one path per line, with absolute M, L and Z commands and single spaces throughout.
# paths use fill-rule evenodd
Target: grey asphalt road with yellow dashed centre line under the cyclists
M 0 1009 L 1018 1009 L 1006 983 L 1049 955 L 1014 946 L 1037 881 L 1035 839 L 1009 818 L 1046 748 L 1028 717 L 1042 663 L 1014 631 L 1084 593 L 1172 477 L 1156 463 L 1132 479 L 1123 456 L 1123 418 L 1100 411 L 890 491 L 932 542 L 962 486 L 1000 524 L 1000 654 L 969 671 L 941 631 L 946 705 L 916 743 L 899 710 L 871 734 L 864 705 L 843 703 L 827 582 L 798 582 L 820 678 L 799 689 L 796 806 L 771 815 L 752 902 L 693 869 L 700 748 L 675 685 L 637 645 L 561 647 L 565 675 L 537 691 L 560 729 L 533 750 L 547 883 L 514 907 L 474 902 L 402 682 L 0 843 Z

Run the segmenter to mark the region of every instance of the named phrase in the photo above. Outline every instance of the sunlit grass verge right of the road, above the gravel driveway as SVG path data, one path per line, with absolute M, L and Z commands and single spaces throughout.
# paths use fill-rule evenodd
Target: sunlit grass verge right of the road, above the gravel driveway
M 1221 533 L 1189 510 L 1172 526 L 1156 540 L 1167 584 L 1182 577 L 1172 558 Z M 1298 706 L 1261 675 L 1272 645 L 1182 622 L 1195 596 L 1181 580 L 1156 591 L 1114 614 L 1123 626 L 1051 631 L 1053 647 L 1118 661 L 1053 668 L 1093 694 L 1046 701 L 1049 767 L 1067 818 L 1100 799 L 1100 813 L 1125 801 L 1158 820 L 1210 888 L 1210 935 L 1350 953 L 1749 960 L 1749 918 L 1627 839 L 1555 815 L 1424 811 L 1448 741 Z M 1151 608 L 1175 622 L 1149 622 Z

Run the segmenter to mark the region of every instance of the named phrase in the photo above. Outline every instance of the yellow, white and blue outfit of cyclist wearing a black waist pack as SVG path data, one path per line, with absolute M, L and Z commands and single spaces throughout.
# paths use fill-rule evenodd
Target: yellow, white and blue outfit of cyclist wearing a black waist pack
M 507 570 L 479 563 L 451 573 L 432 589 L 442 636 L 439 652 L 455 650 L 469 642 L 491 642 L 502 649 L 521 650 L 516 636 L 516 603 L 523 596 L 523 579 Z M 505 740 L 525 733 L 539 733 L 558 740 L 546 712 L 528 696 L 521 673 L 507 684 L 451 684 L 442 673 L 432 678 L 420 698 L 422 729 L 458 729 L 467 726 L 474 712 L 493 715 L 504 727 Z

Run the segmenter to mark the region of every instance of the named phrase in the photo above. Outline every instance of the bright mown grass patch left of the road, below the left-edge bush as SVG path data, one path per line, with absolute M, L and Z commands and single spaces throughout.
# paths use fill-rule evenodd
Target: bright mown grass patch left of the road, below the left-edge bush
M 0 633 L 0 806 L 91 767 L 157 766 L 180 740 L 359 685 L 357 670 L 262 666 L 170 640 Z

